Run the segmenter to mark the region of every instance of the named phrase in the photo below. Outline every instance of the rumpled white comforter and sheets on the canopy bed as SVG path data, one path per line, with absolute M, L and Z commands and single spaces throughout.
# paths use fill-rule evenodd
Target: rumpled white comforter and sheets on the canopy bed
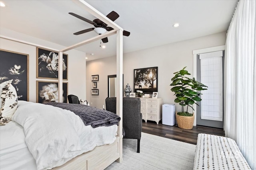
M 50 169 L 116 139 L 117 125 L 85 126 L 71 111 L 44 104 L 18 101 L 12 120 L 22 125 L 24 130 L 16 122 L 0 127 L 1 170 L 36 169 L 35 160 L 38 170 Z M 27 149 L 32 153 L 33 161 Z M 13 154 L 19 150 L 26 150 L 22 153 L 27 152 L 27 156 Z M 30 165 L 34 168 L 28 168 L 27 162 L 32 162 Z

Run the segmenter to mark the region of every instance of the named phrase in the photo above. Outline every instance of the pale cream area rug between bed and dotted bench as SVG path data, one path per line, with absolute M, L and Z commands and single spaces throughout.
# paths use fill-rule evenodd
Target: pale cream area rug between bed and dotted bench
M 123 139 L 123 161 L 105 170 L 192 170 L 196 145 L 142 133 L 140 153 L 136 139 Z

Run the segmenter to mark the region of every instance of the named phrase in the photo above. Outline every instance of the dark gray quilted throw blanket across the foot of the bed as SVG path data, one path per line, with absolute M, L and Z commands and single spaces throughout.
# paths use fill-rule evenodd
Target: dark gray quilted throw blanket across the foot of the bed
M 118 125 L 118 122 L 121 119 L 118 115 L 112 113 L 111 111 L 98 109 L 83 104 L 67 104 L 58 102 L 50 102 L 45 104 L 70 110 L 78 115 L 83 120 L 85 125 L 91 125 L 93 128 L 99 126 Z

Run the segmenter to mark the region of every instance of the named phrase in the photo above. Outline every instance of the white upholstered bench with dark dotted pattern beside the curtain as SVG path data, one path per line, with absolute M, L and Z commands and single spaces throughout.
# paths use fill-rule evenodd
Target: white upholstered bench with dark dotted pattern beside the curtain
M 198 134 L 194 170 L 250 170 L 233 139 Z

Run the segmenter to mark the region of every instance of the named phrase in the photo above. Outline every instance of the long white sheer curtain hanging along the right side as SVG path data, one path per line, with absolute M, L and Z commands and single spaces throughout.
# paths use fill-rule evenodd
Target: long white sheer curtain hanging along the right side
M 224 130 L 256 169 L 256 1 L 240 0 L 226 39 Z

